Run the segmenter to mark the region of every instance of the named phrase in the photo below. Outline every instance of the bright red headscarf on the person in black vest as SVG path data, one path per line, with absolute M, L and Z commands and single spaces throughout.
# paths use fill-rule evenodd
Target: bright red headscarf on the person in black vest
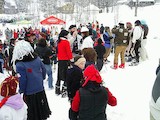
M 99 74 L 99 71 L 95 68 L 94 65 L 89 65 L 84 70 L 83 75 L 84 75 L 85 82 L 82 85 L 82 87 L 84 87 L 88 83 L 88 81 L 95 81 L 97 83 L 102 83 L 101 75 Z

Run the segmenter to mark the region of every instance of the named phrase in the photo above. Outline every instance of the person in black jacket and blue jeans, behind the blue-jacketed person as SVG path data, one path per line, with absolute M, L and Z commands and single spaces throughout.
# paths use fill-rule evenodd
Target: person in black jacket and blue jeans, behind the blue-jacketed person
M 38 41 L 35 52 L 41 58 L 42 62 L 45 65 L 47 75 L 48 75 L 48 87 L 53 88 L 53 77 L 52 77 L 52 66 L 50 56 L 52 56 L 52 50 L 47 46 L 47 42 L 44 38 L 41 38 Z

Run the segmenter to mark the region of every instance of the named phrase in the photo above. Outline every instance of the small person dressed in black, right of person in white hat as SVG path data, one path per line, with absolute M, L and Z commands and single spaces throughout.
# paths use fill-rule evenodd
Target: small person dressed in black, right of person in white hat
M 101 71 L 102 67 L 103 67 L 103 56 L 106 52 L 106 49 L 104 47 L 104 45 L 102 45 L 102 39 L 99 38 L 98 39 L 98 45 L 94 47 L 94 49 L 97 52 L 97 68 L 99 71 Z

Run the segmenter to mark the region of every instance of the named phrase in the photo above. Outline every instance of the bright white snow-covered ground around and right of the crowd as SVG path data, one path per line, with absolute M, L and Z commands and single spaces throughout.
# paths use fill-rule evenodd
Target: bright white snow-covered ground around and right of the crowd
M 131 21 L 144 19 L 149 26 L 147 51 L 149 59 L 138 66 L 128 66 L 125 69 L 113 70 L 113 54 L 109 56 L 111 63 L 105 65 L 101 71 L 104 85 L 107 86 L 117 98 L 117 106 L 107 106 L 108 120 L 149 120 L 149 101 L 151 90 L 155 80 L 155 70 L 159 64 L 160 54 L 160 5 L 140 8 L 138 17 L 133 17 L 133 12 L 128 7 L 119 7 L 119 20 Z M 103 18 L 102 18 L 103 19 Z M 57 79 L 57 71 L 53 73 L 54 84 Z M 49 90 L 47 81 L 44 81 L 49 106 L 52 115 L 48 120 L 69 120 L 68 110 L 70 104 L 68 98 L 55 95 L 55 89 Z

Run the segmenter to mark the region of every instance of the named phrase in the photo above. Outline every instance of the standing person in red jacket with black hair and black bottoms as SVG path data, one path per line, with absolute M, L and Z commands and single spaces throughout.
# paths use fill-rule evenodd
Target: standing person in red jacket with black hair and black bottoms
M 62 97 L 67 95 L 66 75 L 68 66 L 70 65 L 70 60 L 73 57 L 70 43 L 68 41 L 68 34 L 69 32 L 67 30 L 62 30 L 59 34 L 57 43 L 58 74 L 55 93 L 57 95 L 62 93 Z M 60 91 L 61 81 L 64 81 L 62 92 Z

